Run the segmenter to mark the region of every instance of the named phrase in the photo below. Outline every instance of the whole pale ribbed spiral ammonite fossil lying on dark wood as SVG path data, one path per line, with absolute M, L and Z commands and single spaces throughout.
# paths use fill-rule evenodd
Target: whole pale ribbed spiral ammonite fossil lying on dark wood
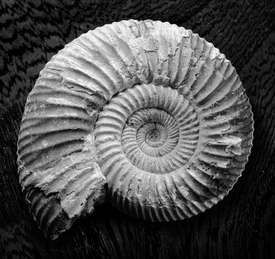
M 252 133 L 248 97 L 219 49 L 177 25 L 121 21 L 41 71 L 21 122 L 20 182 L 52 238 L 102 201 L 150 221 L 186 219 L 232 188 Z

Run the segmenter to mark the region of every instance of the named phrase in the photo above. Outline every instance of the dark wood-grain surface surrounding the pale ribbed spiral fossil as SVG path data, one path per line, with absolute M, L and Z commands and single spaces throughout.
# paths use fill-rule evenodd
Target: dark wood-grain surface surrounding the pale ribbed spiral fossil
M 49 240 L 19 186 L 17 135 L 25 100 L 65 44 L 129 18 L 192 29 L 232 62 L 254 112 L 249 162 L 223 201 L 191 219 L 150 223 L 104 205 Z M 274 83 L 274 1 L 1 1 L 0 258 L 275 258 Z

